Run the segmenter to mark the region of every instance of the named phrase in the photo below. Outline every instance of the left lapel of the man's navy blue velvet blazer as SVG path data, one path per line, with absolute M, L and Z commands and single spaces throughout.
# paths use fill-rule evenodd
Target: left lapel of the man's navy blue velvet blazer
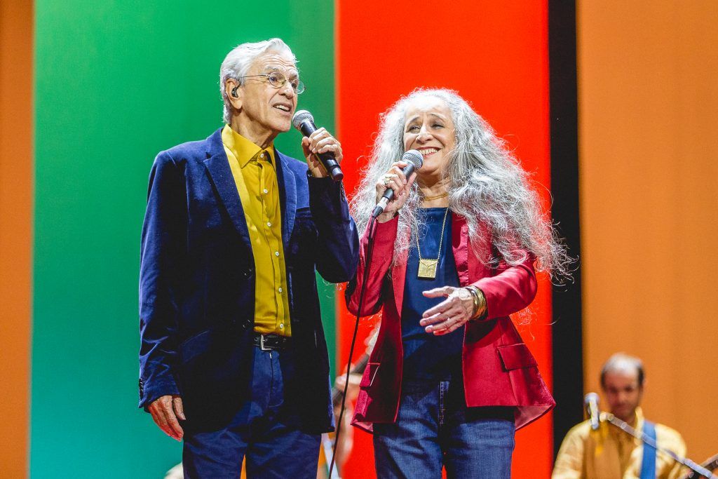
M 244 218 L 244 209 L 239 199 L 237 185 L 229 167 L 229 160 L 222 144 L 221 129 L 208 138 L 208 158 L 205 159 L 205 167 L 210 174 L 213 186 L 217 191 L 222 204 L 232 220 L 232 224 L 242 237 L 247 246 L 250 246 L 249 230 L 247 220 Z

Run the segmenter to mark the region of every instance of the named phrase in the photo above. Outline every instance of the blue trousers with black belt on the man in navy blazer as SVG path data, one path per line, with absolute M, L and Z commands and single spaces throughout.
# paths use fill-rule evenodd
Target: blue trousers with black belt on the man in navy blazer
M 300 405 L 284 401 L 292 353 L 254 348 L 251 400 L 230 424 L 185 434 L 185 478 L 239 478 L 246 458 L 248 478 L 316 478 L 321 436 L 299 429 Z

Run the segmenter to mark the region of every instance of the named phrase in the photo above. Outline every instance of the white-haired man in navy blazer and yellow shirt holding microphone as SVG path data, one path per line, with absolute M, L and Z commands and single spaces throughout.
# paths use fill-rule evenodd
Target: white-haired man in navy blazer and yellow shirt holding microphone
M 333 428 L 315 271 L 353 276 L 358 236 L 325 129 L 307 162 L 274 148 L 299 80 L 281 39 L 246 43 L 220 68 L 225 126 L 160 152 L 140 266 L 139 406 L 184 439 L 187 478 L 314 476 Z

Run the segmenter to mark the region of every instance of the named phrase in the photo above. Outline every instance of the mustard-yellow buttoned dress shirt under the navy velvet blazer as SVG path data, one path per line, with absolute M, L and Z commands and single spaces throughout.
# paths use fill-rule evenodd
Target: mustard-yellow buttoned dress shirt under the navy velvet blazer
M 291 336 L 274 147 L 263 150 L 229 125 L 222 130 L 222 142 L 252 243 L 254 330 Z

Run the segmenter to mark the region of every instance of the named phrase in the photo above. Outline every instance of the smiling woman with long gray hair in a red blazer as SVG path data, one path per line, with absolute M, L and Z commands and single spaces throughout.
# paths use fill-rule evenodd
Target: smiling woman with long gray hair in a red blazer
M 409 149 L 424 163 L 407 178 Z M 536 294 L 534 264 L 569 263 L 526 172 L 456 93 L 415 90 L 383 115 L 352 210 L 365 233 L 348 308 L 363 287 L 360 315 L 382 311 L 353 419 L 373 429 L 378 477 L 510 477 L 516 429 L 555 403 L 509 315 Z

